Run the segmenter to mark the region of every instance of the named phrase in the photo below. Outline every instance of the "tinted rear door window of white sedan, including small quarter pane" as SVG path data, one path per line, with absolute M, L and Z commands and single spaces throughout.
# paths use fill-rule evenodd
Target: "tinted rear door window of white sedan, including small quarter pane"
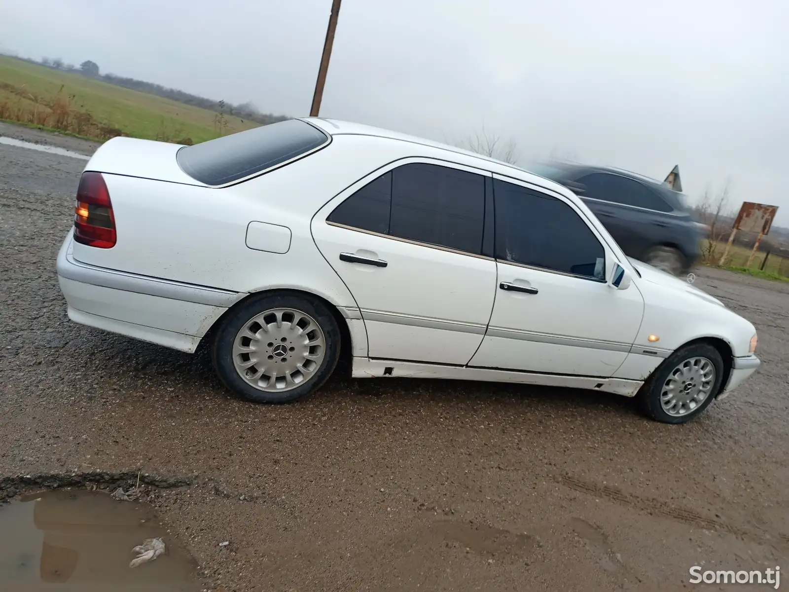
M 484 206 L 483 175 L 409 163 L 353 193 L 327 221 L 478 255 Z

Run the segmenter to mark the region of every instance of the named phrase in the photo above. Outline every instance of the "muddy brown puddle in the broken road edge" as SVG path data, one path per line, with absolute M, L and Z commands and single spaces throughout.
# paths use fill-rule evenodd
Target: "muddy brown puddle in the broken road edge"
M 129 568 L 132 548 L 154 537 L 166 553 Z M 193 592 L 195 568 L 147 504 L 61 490 L 0 506 L 3 592 Z

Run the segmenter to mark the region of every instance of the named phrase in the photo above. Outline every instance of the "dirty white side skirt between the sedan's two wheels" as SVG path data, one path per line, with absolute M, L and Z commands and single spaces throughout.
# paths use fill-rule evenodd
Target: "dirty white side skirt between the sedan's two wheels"
M 354 378 L 443 378 L 457 380 L 484 380 L 488 382 L 511 382 L 539 384 L 554 387 L 585 388 L 591 391 L 612 392 L 615 395 L 634 397 L 644 384 L 643 380 L 623 378 L 579 377 L 563 374 L 539 374 L 518 370 L 476 368 L 460 365 L 428 364 L 402 360 L 379 360 L 353 358 Z

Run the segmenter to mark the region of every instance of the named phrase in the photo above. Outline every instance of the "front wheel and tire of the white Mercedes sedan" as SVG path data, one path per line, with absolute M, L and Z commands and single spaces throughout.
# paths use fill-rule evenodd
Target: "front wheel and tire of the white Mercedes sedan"
M 709 407 L 723 377 L 720 352 L 709 343 L 690 343 L 666 358 L 636 396 L 656 422 L 686 423 Z

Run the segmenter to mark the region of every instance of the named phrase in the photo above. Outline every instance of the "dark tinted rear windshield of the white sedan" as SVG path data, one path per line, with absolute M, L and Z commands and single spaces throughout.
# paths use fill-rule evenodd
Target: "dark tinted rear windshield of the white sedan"
M 329 137 L 298 119 L 185 146 L 176 159 L 189 177 L 206 185 L 225 185 L 286 163 L 327 144 Z

